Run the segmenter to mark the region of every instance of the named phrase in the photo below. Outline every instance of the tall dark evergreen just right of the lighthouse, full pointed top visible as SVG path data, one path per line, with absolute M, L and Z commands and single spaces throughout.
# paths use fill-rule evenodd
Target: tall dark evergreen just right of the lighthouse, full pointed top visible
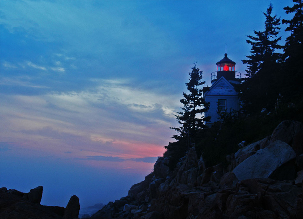
M 281 71 L 281 54 L 275 52 L 283 46 L 277 43 L 280 18 L 272 16 L 272 5 L 267 8 L 265 15 L 265 30 L 255 31 L 255 36 L 248 36 L 246 40 L 252 47 L 248 59 L 242 60 L 248 64 L 246 70 L 248 76 L 245 82 L 238 86 L 244 109 L 247 113 L 260 113 L 262 108 L 271 110 L 275 106 L 279 95 L 277 74 Z

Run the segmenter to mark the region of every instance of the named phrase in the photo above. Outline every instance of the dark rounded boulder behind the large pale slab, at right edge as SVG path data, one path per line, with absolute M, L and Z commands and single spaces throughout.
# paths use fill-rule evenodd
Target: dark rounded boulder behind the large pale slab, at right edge
M 273 131 L 270 143 L 281 140 L 288 143 L 296 155 L 302 154 L 302 123 L 284 120 Z

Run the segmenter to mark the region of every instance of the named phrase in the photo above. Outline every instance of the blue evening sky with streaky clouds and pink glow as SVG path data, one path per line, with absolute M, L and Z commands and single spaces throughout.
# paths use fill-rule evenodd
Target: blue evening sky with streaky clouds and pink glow
M 193 63 L 210 86 L 227 49 L 243 77 L 270 2 L 292 17 L 290 0 L 1 0 L 0 186 L 64 207 L 125 197 L 174 141 Z

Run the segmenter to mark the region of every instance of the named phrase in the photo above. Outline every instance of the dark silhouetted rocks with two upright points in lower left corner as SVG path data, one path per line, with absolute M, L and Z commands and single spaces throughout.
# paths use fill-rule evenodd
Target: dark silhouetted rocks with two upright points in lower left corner
M 79 198 L 73 195 L 66 207 L 41 205 L 43 187 L 28 193 L 2 187 L 0 218 L 78 218 Z

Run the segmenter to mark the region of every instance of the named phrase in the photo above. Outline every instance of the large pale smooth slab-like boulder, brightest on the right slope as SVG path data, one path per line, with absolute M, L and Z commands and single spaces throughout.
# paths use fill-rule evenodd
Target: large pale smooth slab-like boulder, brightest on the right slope
M 295 157 L 295 151 L 285 142 L 276 140 L 248 157 L 233 172 L 239 180 L 266 178 L 281 164 Z

